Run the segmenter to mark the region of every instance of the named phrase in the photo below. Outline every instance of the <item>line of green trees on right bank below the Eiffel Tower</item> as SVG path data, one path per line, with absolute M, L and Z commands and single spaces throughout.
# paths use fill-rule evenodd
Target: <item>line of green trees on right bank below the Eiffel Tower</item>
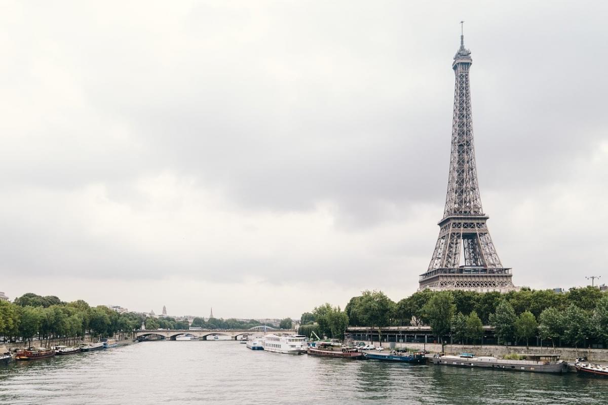
M 528 342 L 539 336 L 553 346 L 575 347 L 592 341 L 608 344 L 608 293 L 598 288 L 570 288 L 565 293 L 522 288 L 496 291 L 418 291 L 398 302 L 382 291 L 363 291 L 350 299 L 344 311 L 324 304 L 302 314 L 299 333 L 344 338 L 347 326 L 370 328 L 430 325 L 444 343 L 479 342 L 483 325 L 494 326 L 499 342 Z M 342 327 L 344 325 L 344 327 Z M 341 328 L 341 330 L 340 330 Z

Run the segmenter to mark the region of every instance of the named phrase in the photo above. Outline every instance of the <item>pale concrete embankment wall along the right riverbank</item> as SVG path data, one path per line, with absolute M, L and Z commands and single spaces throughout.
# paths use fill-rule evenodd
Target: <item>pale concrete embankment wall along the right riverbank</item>
M 371 343 L 371 342 L 367 342 Z M 376 346 L 378 342 L 373 342 Z M 393 343 L 396 349 L 407 347 L 409 349 L 422 350 L 426 349 L 431 353 L 441 352 L 441 345 L 436 343 Z M 382 347 L 390 348 L 388 342 L 382 342 Z M 561 355 L 562 360 L 575 361 L 579 357 L 587 357 L 589 361 L 608 362 L 608 349 L 574 349 L 572 347 L 530 347 L 525 346 L 503 346 L 503 345 L 461 345 L 461 344 L 446 344 L 444 347 L 446 354 L 457 355 L 460 353 L 475 353 L 477 356 L 505 356 L 510 353 L 529 353 L 533 355 Z

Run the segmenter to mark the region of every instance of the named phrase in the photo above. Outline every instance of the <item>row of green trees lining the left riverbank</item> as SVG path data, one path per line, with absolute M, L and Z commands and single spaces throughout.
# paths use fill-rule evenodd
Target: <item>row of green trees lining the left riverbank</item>
M 15 302 L 0 301 L 0 336 L 9 340 L 19 337 L 29 344 L 34 336 L 47 345 L 50 339 L 69 344 L 87 333 L 94 339 L 123 338 L 142 321 L 143 317 L 134 313 L 119 314 L 101 305 L 91 307 L 83 300 L 63 302 L 55 296 L 27 293 Z

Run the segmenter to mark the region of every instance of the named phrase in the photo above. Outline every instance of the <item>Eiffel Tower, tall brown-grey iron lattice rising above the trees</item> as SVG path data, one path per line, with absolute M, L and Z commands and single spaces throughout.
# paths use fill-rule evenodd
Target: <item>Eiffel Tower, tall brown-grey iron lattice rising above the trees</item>
M 418 290 L 510 291 L 511 268 L 503 267 L 483 213 L 477 185 L 473 120 L 471 112 L 471 51 L 460 35 L 460 49 L 454 56 L 456 84 L 452 149 L 447 181 L 446 207 L 440 220 L 439 237 L 429 269 L 420 276 Z M 461 258 L 464 264 L 461 265 Z

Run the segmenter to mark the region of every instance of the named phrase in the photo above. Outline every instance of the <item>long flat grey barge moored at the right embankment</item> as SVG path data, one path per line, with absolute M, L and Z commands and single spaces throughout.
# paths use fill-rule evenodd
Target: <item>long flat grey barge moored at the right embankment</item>
M 560 355 L 519 355 L 520 360 L 500 359 L 492 356 L 476 357 L 472 353 L 461 356 L 439 356 L 431 358 L 433 364 L 455 367 L 486 367 L 489 369 L 527 371 L 533 373 L 565 373 L 568 363 L 560 361 Z

